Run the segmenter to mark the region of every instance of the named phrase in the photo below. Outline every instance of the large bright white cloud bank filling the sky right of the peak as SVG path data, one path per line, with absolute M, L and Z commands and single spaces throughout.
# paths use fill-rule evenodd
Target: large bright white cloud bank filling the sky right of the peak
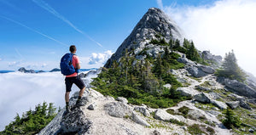
M 222 56 L 234 49 L 241 68 L 256 75 L 256 1 L 220 0 L 199 7 L 165 6 L 164 10 L 197 48 Z

